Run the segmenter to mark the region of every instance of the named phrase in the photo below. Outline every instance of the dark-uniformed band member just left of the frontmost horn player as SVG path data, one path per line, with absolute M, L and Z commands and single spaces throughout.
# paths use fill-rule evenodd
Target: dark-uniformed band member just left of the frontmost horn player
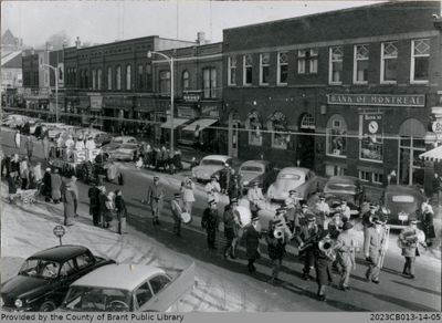
M 304 269 L 303 279 L 311 280 L 311 269 L 314 265 L 315 254 L 314 244 L 319 240 L 320 228 L 316 223 L 314 213 L 308 212 L 305 215 L 305 222 L 301 226 L 299 233 L 296 237 L 299 246 L 299 253 L 304 253 Z M 301 251 L 303 250 L 303 251 Z

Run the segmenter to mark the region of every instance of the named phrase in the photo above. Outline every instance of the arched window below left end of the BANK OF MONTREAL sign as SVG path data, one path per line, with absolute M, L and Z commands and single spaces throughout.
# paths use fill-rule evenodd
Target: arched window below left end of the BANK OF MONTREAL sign
M 327 155 L 347 156 L 347 124 L 341 115 L 330 116 L 327 122 L 326 137 Z

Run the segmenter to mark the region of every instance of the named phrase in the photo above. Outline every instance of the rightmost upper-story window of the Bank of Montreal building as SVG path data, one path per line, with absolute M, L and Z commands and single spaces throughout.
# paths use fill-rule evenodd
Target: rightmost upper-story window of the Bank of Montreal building
M 410 82 L 427 83 L 429 81 L 430 40 L 411 41 Z

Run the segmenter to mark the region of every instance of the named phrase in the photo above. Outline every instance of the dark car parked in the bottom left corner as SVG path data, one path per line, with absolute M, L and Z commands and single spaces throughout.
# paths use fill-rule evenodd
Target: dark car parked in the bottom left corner
M 3 311 L 49 312 L 62 303 L 69 286 L 91 271 L 115 263 L 82 246 L 57 246 L 28 258 L 17 277 L 1 284 Z

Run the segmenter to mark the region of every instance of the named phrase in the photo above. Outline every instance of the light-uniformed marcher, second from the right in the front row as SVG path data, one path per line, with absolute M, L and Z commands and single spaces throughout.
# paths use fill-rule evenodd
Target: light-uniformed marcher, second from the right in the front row
M 372 281 L 373 283 L 379 283 L 379 259 L 381 257 L 382 244 L 386 238 L 383 229 L 383 219 L 378 216 L 372 217 L 373 227 L 367 229 L 367 237 L 364 242 L 364 253 L 366 260 L 369 262 L 366 272 L 367 281 Z

